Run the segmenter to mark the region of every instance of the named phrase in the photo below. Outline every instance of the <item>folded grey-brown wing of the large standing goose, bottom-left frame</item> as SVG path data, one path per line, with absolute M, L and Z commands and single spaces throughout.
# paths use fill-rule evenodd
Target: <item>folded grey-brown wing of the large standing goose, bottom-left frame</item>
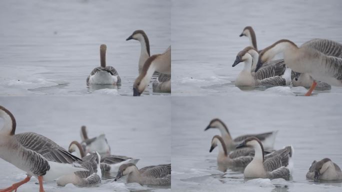
M 41 154 L 46 160 L 69 163 L 82 161 L 51 139 L 34 132 L 24 132 L 14 135 L 15 139 L 26 149 Z

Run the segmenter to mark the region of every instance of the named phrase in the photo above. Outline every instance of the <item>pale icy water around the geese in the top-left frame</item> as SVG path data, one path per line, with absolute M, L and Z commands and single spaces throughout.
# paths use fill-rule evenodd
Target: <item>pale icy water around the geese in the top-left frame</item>
M 132 95 L 143 29 L 150 53 L 170 45 L 170 0 L 1 0 L 0 95 Z M 87 87 L 99 46 L 121 86 Z M 151 84 L 143 94 L 153 93 Z

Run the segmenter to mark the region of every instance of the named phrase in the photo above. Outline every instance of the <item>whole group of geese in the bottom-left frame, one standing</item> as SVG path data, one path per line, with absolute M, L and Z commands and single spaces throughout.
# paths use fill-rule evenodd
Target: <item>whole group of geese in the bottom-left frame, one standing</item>
M 1 105 L 0 117 L 4 122 L 0 129 L 0 158 L 27 174 L 25 179 L 0 189 L 0 192 L 16 191 L 31 176 L 37 177 L 39 192 L 44 191 L 43 181 L 51 180 L 55 180 L 58 185 L 99 185 L 105 172 L 116 172 L 115 181 L 126 176 L 127 183 L 163 186 L 171 184 L 171 164 L 138 169 L 135 164 L 139 159 L 111 154 L 105 135 L 88 138 L 85 126 L 80 131 L 82 141 L 72 141 L 66 150 L 51 139 L 34 132 L 15 134 L 15 118 Z

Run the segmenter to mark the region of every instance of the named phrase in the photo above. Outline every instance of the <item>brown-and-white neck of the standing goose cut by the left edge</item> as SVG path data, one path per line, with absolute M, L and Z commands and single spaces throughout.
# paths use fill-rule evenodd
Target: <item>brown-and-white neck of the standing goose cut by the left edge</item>
M 14 135 L 16 121 L 13 114 L 0 105 L 0 117 L 3 119 L 3 127 L 0 129 L 0 134 L 3 135 Z

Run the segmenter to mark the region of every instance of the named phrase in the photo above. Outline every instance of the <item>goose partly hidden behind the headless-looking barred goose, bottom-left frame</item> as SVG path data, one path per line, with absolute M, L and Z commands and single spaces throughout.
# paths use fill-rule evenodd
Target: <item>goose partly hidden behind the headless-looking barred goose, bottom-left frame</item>
M 77 141 L 72 141 L 69 145 L 68 151 L 72 154 L 75 153 L 75 156 L 78 158 L 83 158 L 85 156 L 83 147 Z M 134 159 L 127 156 L 122 155 L 113 155 L 113 154 L 106 154 L 101 156 L 100 160 L 100 169 L 102 172 L 117 172 L 118 168 L 121 164 L 125 163 L 133 163 L 136 164 L 139 159 Z

